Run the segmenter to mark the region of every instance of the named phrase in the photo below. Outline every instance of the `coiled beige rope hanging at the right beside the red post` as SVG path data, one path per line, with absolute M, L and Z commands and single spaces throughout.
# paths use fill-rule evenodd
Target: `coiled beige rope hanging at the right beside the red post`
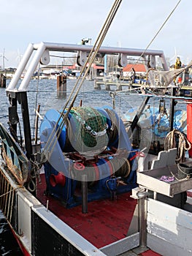
M 164 141 L 164 149 L 167 151 L 170 148 L 177 148 L 177 159 L 175 159 L 175 161 L 184 162 L 185 150 L 191 149 L 191 143 L 182 132 L 177 129 L 173 129 L 172 132 L 169 132 L 166 135 Z

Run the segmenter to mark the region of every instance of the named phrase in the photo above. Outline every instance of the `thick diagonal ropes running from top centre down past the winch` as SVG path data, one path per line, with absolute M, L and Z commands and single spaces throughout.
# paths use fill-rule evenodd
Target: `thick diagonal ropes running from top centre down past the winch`
M 91 49 L 91 52 L 89 53 L 88 59 L 85 61 L 85 65 L 82 67 L 82 70 L 80 72 L 80 76 L 77 79 L 77 82 L 74 85 L 74 88 L 72 89 L 71 94 L 69 95 L 69 99 L 66 101 L 66 104 L 64 105 L 64 108 L 61 112 L 61 115 L 58 118 L 58 121 L 55 124 L 55 127 L 49 137 L 49 139 L 47 140 L 47 143 L 45 145 L 44 151 L 42 153 L 42 157 L 45 157 L 46 152 L 49 151 L 50 147 L 54 148 L 55 144 L 57 143 L 57 140 L 55 140 L 55 138 L 59 138 L 59 136 L 61 135 L 61 131 L 64 127 L 64 124 L 66 124 L 67 118 L 69 116 L 69 112 L 72 108 L 72 106 L 74 105 L 74 101 L 77 98 L 77 94 L 80 91 L 80 88 L 82 86 L 82 83 L 84 82 L 86 75 L 88 74 L 89 69 L 91 68 L 91 65 L 93 64 L 93 61 L 96 57 L 96 54 L 99 51 L 99 48 L 101 47 L 101 44 L 104 40 L 104 37 L 107 34 L 107 31 L 110 29 L 110 25 L 112 23 L 113 18 L 115 17 L 116 12 L 118 11 L 118 7 L 120 6 L 122 0 L 115 0 L 115 3 L 112 5 L 112 8 L 110 10 L 109 15 L 107 16 L 107 20 L 104 22 L 104 26 L 102 27 L 100 33 L 99 33 L 99 37 L 96 39 L 95 44 L 93 45 L 93 48 Z M 88 65 L 88 68 L 86 68 Z M 85 71 L 85 75 L 82 77 L 82 73 Z M 82 77 L 82 80 L 81 80 Z M 77 85 L 79 83 L 79 81 L 81 80 L 80 86 L 77 88 Z M 66 110 L 66 106 L 69 104 L 70 99 L 72 98 L 72 94 L 74 93 L 74 90 L 77 89 L 76 93 L 74 94 L 74 97 L 72 99 L 72 102 L 69 105 L 69 108 L 67 109 L 66 113 L 64 114 L 64 111 Z M 64 115 L 64 118 L 61 121 L 61 124 L 58 126 L 59 121 L 61 120 L 61 117 Z M 58 129 L 57 129 L 58 127 Z M 55 132 L 55 129 L 57 129 L 57 131 Z M 59 132 L 58 132 L 59 130 Z M 56 136 L 57 135 L 57 136 Z M 51 141 L 50 141 L 51 140 Z M 55 141 L 53 143 L 53 141 Z M 53 149 L 52 149 L 53 150 Z M 50 152 L 51 154 L 51 152 Z M 42 160 L 42 159 L 41 159 Z

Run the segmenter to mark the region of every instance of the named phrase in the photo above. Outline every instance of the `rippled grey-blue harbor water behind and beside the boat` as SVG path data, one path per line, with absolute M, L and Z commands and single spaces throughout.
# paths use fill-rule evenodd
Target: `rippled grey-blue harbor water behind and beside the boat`
M 21 80 L 20 80 L 21 81 Z M 35 135 L 35 118 L 38 105 L 40 107 L 40 116 L 44 116 L 46 111 L 50 108 L 56 110 L 61 110 L 64 105 L 66 105 L 66 100 L 71 94 L 77 80 L 67 79 L 66 83 L 66 98 L 58 97 L 57 95 L 57 81 L 56 80 L 31 80 L 28 87 L 28 107 L 30 113 L 31 122 L 31 135 L 34 138 Z M 7 80 L 7 86 L 9 80 Z M 123 88 L 126 89 L 126 88 Z M 101 90 L 94 89 L 94 81 L 85 80 L 82 84 L 80 92 L 74 102 L 74 107 L 80 105 L 89 105 L 91 107 L 101 107 L 108 105 L 111 108 L 115 108 L 116 113 L 119 116 L 126 114 L 131 108 L 136 108 L 141 105 L 143 101 L 142 94 L 134 92 L 134 94 L 129 94 L 128 91 L 116 92 L 116 86 L 111 86 L 111 91 L 106 91 L 105 88 Z M 74 95 L 73 95 L 74 96 Z M 0 112 L 0 122 L 4 124 L 4 127 L 9 129 L 8 125 L 8 108 L 9 100 L 6 94 L 6 89 L 0 89 L 0 101 L 1 101 L 1 112 Z M 150 99 L 149 104 L 158 106 L 159 99 Z M 169 103 L 166 103 L 169 104 Z M 18 115 L 21 116 L 20 106 L 18 106 Z M 22 118 L 20 118 L 22 120 Z M 39 125 L 41 118 L 39 118 Z M 19 123 L 20 129 L 22 130 L 22 121 Z M 10 242 L 12 241 L 12 242 Z M 15 238 L 12 236 L 11 230 L 9 230 L 9 225 L 4 218 L 4 215 L 0 211 L 0 255 L 22 255 L 19 247 L 15 244 Z

